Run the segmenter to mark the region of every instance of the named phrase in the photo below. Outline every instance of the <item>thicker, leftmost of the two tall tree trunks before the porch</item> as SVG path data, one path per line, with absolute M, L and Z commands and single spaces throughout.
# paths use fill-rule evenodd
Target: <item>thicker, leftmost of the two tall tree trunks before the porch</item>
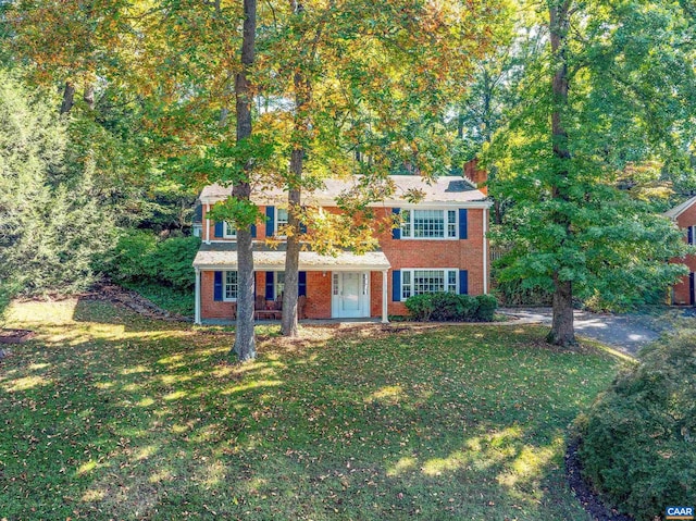
M 237 111 L 237 142 L 251 136 L 251 103 L 253 101 L 247 74 L 254 58 L 257 30 L 257 0 L 244 0 L 244 30 L 241 39 L 241 70 L 235 77 L 235 101 Z M 246 178 L 235 183 L 232 194 L 249 201 L 251 164 L 245 165 Z M 241 362 L 257 357 L 253 332 L 253 241 L 251 228 L 237 230 L 237 327 L 234 352 Z

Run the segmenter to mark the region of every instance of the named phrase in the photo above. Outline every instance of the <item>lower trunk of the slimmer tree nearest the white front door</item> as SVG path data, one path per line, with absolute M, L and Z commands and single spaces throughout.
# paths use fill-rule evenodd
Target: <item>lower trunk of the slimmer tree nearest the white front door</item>
M 302 175 L 302 157 L 304 150 L 293 150 L 290 158 L 290 173 L 298 177 Z M 301 201 L 300 188 L 293 188 L 288 194 L 288 227 L 293 234 L 287 237 L 287 251 L 285 253 L 285 290 L 283 293 L 283 318 L 281 321 L 281 333 L 284 336 L 297 336 L 297 298 L 299 286 L 299 264 L 300 264 L 300 222 L 296 210 Z

